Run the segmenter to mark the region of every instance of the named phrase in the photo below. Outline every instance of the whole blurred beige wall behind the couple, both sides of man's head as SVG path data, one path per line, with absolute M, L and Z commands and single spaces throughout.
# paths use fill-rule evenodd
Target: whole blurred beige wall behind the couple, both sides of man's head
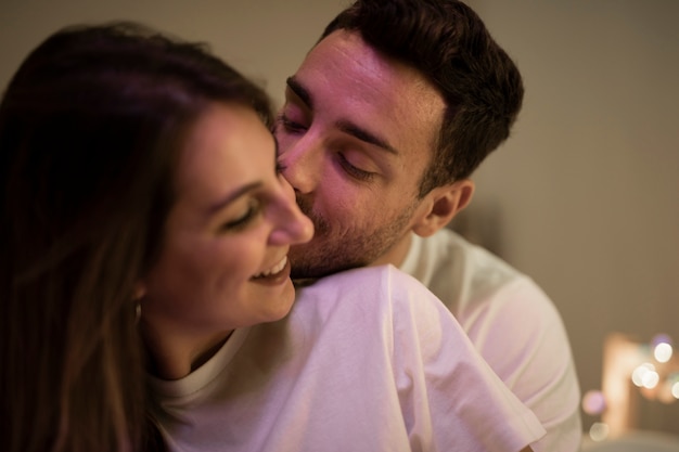
M 611 332 L 679 341 L 679 2 L 470 0 L 525 79 L 510 140 L 475 175 L 465 224 L 552 297 L 582 391 Z M 0 0 L 0 87 L 48 34 L 132 18 L 191 40 L 280 104 L 345 0 Z M 641 428 L 679 432 L 677 405 Z M 585 416 L 585 428 L 597 421 Z

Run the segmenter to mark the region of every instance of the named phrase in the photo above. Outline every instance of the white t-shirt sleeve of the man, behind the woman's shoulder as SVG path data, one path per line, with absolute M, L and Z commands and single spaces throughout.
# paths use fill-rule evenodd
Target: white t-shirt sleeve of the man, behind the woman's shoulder
M 565 326 L 528 277 L 514 280 L 460 322 L 486 361 L 538 416 L 547 435 L 535 452 L 573 452 L 581 441 L 580 388 Z M 511 347 L 507 341 L 511 340 Z

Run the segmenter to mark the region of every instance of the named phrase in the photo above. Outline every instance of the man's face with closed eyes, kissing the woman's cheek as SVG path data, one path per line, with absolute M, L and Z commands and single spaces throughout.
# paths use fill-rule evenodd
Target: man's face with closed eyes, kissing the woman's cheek
M 316 227 L 294 246 L 293 277 L 400 263 L 426 215 L 418 198 L 444 100 L 414 69 L 338 30 L 289 79 L 276 127 L 279 163 Z

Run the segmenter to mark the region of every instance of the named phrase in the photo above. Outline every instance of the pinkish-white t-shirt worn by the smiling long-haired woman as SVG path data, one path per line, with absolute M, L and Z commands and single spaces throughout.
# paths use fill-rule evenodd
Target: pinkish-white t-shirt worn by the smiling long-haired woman
M 390 266 L 304 287 L 287 318 L 151 384 L 172 451 L 517 452 L 545 434 L 440 301 Z

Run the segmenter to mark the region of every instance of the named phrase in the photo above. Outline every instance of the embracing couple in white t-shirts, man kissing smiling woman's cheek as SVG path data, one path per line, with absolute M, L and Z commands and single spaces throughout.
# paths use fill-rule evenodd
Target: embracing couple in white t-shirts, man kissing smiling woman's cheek
M 145 34 L 56 34 L 2 101 L 9 450 L 577 450 L 555 310 L 441 230 L 523 95 L 469 8 L 357 2 L 274 125 Z

